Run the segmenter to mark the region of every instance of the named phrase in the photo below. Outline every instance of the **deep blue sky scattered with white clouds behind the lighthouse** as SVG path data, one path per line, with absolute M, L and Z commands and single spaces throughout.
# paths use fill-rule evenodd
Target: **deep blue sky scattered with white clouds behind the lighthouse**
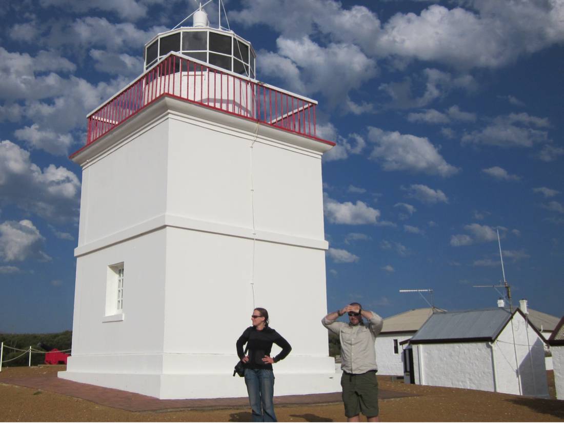
M 259 80 L 319 101 L 327 305 L 564 307 L 564 1 L 225 1 Z M 210 5 L 217 25 L 217 0 Z M 86 114 L 143 71 L 175 0 L 0 8 L 0 332 L 72 328 Z M 225 25 L 225 22 L 223 23 Z M 429 295 L 426 299 L 430 301 Z

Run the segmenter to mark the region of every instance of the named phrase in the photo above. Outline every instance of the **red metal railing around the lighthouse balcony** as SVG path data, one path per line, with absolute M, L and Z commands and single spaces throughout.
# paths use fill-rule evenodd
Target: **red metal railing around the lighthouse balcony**
M 86 144 L 164 95 L 324 141 L 316 137 L 314 100 L 171 52 L 89 114 Z

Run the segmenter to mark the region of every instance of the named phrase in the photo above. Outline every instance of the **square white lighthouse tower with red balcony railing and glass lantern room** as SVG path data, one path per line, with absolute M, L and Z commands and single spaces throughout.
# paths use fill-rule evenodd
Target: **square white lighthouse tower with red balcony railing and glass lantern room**
M 72 357 L 59 377 L 157 398 L 245 396 L 235 342 L 265 307 L 292 353 L 276 395 L 340 389 L 327 331 L 315 100 L 259 82 L 252 45 L 158 34 L 88 116 Z M 273 354 L 277 351 L 273 350 Z

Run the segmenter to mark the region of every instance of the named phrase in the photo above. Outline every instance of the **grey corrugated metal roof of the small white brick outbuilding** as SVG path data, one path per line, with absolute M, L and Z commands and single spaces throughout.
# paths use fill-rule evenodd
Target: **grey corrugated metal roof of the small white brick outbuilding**
M 439 340 L 493 340 L 510 318 L 509 310 L 495 309 L 438 312 L 411 338 L 412 343 Z

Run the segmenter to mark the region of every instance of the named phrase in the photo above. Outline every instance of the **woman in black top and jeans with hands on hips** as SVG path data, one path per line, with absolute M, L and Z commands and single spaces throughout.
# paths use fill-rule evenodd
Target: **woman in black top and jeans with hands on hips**
M 268 327 L 268 311 L 254 309 L 250 316 L 253 325 L 237 340 L 237 355 L 245 363 L 245 385 L 249 393 L 249 403 L 253 421 L 277 421 L 274 414 L 274 373 L 272 363 L 284 359 L 292 347 L 278 332 Z M 248 355 L 243 352 L 247 344 Z M 270 356 L 272 343 L 282 351 L 274 358 Z

